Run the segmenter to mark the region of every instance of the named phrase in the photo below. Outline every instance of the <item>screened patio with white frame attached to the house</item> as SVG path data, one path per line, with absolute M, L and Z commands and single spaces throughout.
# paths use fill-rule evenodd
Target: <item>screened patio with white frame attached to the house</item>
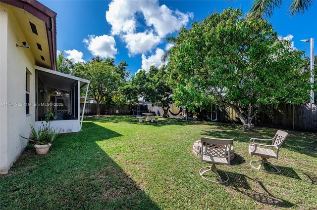
M 56 116 L 51 126 L 61 133 L 78 132 L 80 121 L 80 89 L 84 88 L 85 101 L 89 81 L 71 75 L 35 66 L 36 108 L 35 127 L 44 123 L 48 109 Z

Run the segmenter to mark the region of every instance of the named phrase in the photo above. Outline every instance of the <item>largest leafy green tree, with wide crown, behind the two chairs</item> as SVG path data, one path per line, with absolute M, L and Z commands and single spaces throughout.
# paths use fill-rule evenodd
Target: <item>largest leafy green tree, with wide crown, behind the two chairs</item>
M 252 129 L 268 106 L 309 99 L 303 53 L 279 40 L 266 20 L 229 8 L 182 28 L 176 39 L 167 69 L 178 104 L 229 106 Z

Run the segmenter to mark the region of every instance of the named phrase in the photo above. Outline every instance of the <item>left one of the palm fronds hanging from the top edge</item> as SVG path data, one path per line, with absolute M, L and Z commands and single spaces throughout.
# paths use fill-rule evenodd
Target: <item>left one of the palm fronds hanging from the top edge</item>
M 251 13 L 259 17 L 271 17 L 274 8 L 280 7 L 282 0 L 253 0 L 252 2 Z

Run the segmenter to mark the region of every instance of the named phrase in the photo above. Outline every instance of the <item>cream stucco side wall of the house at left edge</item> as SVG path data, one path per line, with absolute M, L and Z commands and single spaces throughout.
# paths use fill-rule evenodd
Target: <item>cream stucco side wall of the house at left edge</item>
M 35 103 L 34 56 L 30 49 L 16 47 L 26 39 L 11 9 L 2 2 L 0 7 L 0 103 L 25 103 L 26 68 L 30 73 L 30 102 Z M 6 173 L 27 145 L 20 135 L 29 136 L 35 107 L 26 115 L 25 106 L 1 106 L 0 122 L 0 173 Z

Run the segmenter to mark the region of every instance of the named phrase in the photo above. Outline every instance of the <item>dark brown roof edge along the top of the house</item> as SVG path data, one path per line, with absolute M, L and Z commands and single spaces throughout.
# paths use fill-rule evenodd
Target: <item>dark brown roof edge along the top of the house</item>
M 45 23 L 51 66 L 56 71 L 56 12 L 37 0 L 0 0 L 11 6 L 23 9 Z M 35 46 L 31 46 L 32 48 Z

